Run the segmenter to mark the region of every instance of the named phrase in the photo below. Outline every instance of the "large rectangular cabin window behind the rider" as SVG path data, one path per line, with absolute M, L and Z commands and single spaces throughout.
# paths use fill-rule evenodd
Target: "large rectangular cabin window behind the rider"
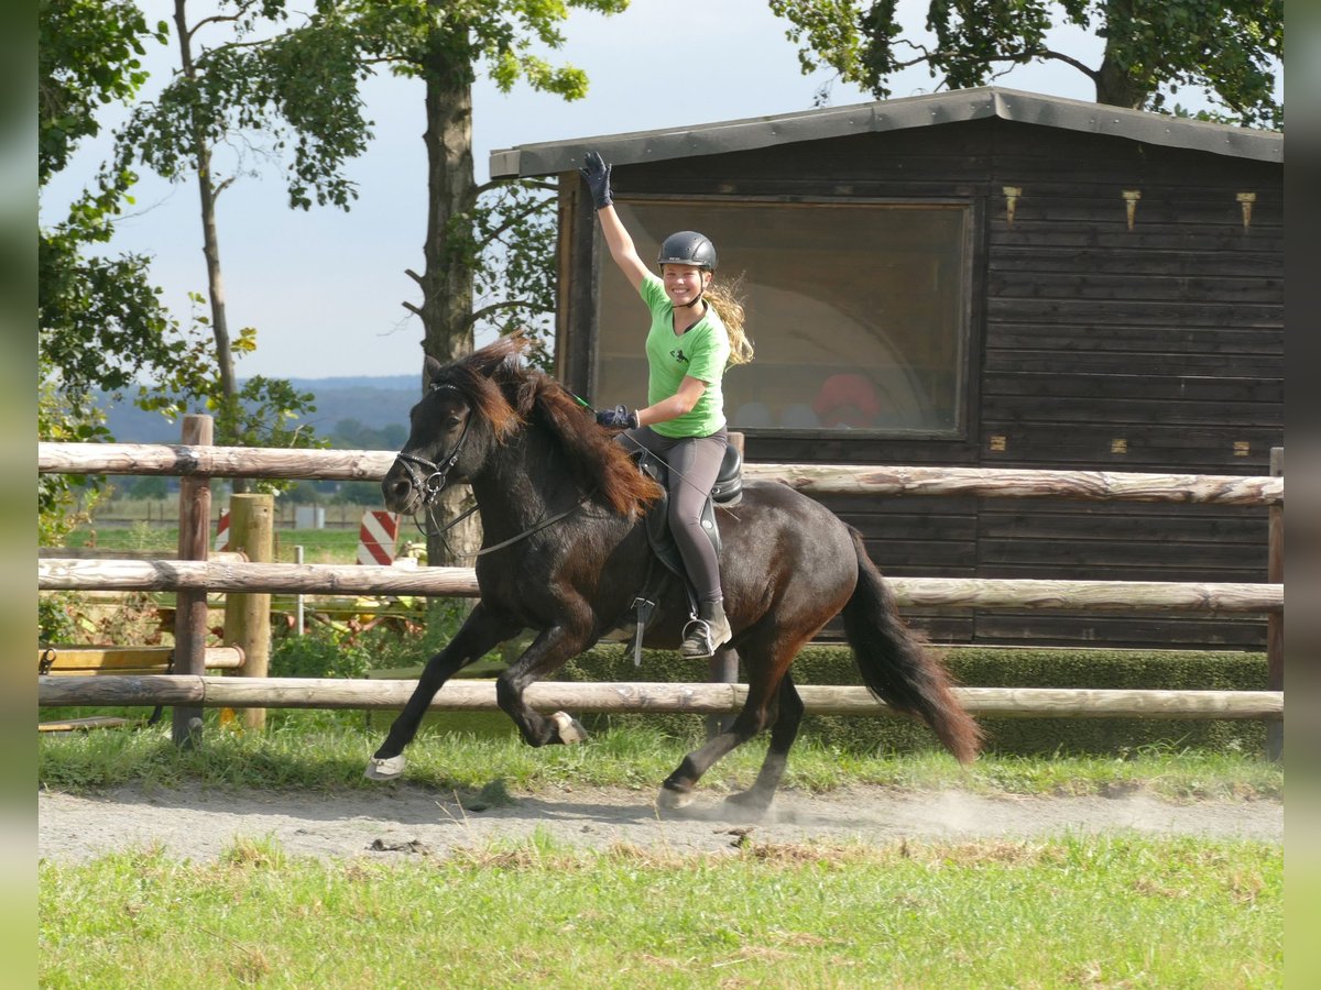
M 616 209 L 645 260 L 672 231 L 699 230 L 716 244 L 716 279 L 741 279 L 757 354 L 725 374 L 732 429 L 962 434 L 966 203 L 617 199 Z M 593 401 L 641 405 L 646 310 L 605 253 L 597 301 Z

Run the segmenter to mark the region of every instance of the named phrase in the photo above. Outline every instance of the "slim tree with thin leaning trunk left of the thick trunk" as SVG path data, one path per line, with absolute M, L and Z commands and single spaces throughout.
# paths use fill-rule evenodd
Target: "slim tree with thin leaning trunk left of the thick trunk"
M 174 0 L 174 38 L 180 70 L 156 100 L 135 107 L 118 135 L 116 168 L 141 162 L 172 181 L 197 180 L 206 261 L 206 302 L 214 339 L 214 370 L 209 376 L 196 362 L 192 378 L 176 376 L 177 397 L 156 400 L 152 408 L 177 411 L 198 395 L 217 417 L 222 444 L 308 446 L 312 430 L 288 429 L 288 420 L 314 412 L 312 396 L 295 392 L 288 381 L 254 378 L 240 388 L 234 374 L 235 351 L 255 347 L 255 330 L 235 341 L 226 314 L 221 268 L 217 201 L 247 165 L 221 177 L 215 150 L 221 144 L 251 149 L 256 157 L 279 156 L 292 145 L 287 185 L 289 203 L 310 209 L 332 203 L 347 209 L 355 195 L 342 174 L 343 162 L 365 150 L 370 137 L 362 117 L 357 81 L 370 70 L 357 61 L 351 36 L 333 16 L 316 24 L 280 30 L 287 21 L 284 0 L 219 0 L 217 12 L 190 21 L 188 0 Z M 205 45 L 201 32 L 227 30 Z M 235 479 L 234 490 L 247 490 Z

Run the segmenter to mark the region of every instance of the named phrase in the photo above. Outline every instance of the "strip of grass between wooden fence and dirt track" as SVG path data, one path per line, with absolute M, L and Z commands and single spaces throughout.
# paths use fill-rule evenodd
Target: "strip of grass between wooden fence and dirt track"
M 273 713 L 272 713 L 273 715 Z M 169 741 L 169 718 L 156 727 L 46 734 L 38 780 L 61 791 L 144 787 L 301 788 L 334 792 L 375 787 L 362 779 L 367 758 L 384 738 L 388 714 L 283 713 L 263 734 L 219 729 L 210 721 L 203 746 L 181 751 Z M 536 792 L 564 783 L 653 789 L 697 744 L 639 727 L 594 735 L 585 746 L 534 750 L 501 715 L 483 731 L 424 730 L 408 750 L 407 780 L 420 787 L 480 789 L 491 780 Z M 439 725 L 446 719 L 437 719 Z M 721 760 L 703 787 L 745 788 L 756 777 L 765 739 Z M 1115 756 L 1050 759 L 987 755 L 963 768 L 941 751 L 855 752 L 810 739 L 789 760 L 786 787 L 826 792 L 849 785 L 910 791 L 962 788 L 1005 795 L 1112 795 L 1144 789 L 1169 800 L 1283 797 L 1284 770 L 1252 755 L 1149 747 Z

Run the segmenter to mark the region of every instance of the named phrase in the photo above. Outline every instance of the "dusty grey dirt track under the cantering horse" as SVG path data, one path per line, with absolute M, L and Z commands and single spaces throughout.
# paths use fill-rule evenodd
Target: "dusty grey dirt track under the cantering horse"
M 1137 832 L 1284 841 L 1277 800 L 1172 804 L 1148 793 L 1108 797 L 983 797 L 849 788 L 826 795 L 781 792 L 760 821 L 738 817 L 719 793 L 659 812 L 653 795 L 563 788 L 510 795 L 465 809 L 453 793 L 408 784 L 333 796 L 305 792 L 120 788 L 95 796 L 41 792 L 38 853 L 82 862 L 108 851 L 161 845 L 194 861 L 218 857 L 236 838 L 273 838 L 291 855 L 399 861 L 481 849 L 534 833 L 559 843 L 608 849 L 630 843 L 678 854 L 733 851 L 757 843 L 884 846 L 900 840 L 1032 838 Z

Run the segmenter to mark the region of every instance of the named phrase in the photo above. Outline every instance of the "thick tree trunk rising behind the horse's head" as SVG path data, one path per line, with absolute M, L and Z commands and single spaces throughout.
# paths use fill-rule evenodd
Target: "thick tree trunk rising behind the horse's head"
M 473 351 L 473 272 L 468 260 L 469 223 L 464 219 L 476 199 L 473 177 L 473 69 L 466 38 L 456 29 L 435 32 L 424 61 L 427 82 L 427 242 L 425 271 L 419 280 L 423 350 L 441 363 Z M 457 42 L 457 44 L 456 44 Z M 464 487 L 446 490 L 437 516 L 444 524 L 472 506 Z M 444 539 L 427 541 L 432 565 L 472 564 L 481 546 L 476 516 L 460 523 Z

